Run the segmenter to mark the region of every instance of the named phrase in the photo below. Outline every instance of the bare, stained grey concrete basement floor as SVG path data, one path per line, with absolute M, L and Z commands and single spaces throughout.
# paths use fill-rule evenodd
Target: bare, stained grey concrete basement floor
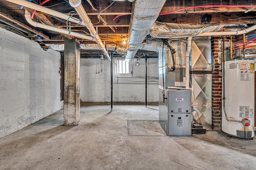
M 62 109 L 1 138 L 0 169 L 256 169 L 255 139 L 228 138 L 216 131 L 191 137 L 168 137 L 162 135 L 162 129 L 143 129 L 143 125 L 137 130 L 144 131 L 144 135 L 129 135 L 128 120 L 154 122 L 158 120 L 158 106 L 122 104 L 114 104 L 110 112 L 110 105 L 106 103 L 82 103 L 78 126 L 63 126 Z M 134 122 L 130 128 L 136 131 L 134 126 L 140 122 Z

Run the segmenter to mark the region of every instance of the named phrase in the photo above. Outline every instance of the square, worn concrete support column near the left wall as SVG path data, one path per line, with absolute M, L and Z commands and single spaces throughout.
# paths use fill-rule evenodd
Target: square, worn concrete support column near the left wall
M 64 41 L 64 125 L 80 121 L 80 44 L 76 39 Z

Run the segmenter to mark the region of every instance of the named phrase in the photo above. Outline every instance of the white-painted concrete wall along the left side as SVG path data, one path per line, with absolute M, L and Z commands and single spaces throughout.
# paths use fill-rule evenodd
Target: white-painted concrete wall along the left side
M 59 57 L 0 28 L 0 138 L 63 107 Z

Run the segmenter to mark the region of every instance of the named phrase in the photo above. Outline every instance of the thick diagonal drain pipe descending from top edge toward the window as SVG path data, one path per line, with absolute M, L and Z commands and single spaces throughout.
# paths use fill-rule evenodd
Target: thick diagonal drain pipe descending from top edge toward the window
M 69 4 L 70 4 L 70 6 L 75 8 L 76 12 L 81 17 L 82 21 L 84 21 L 85 26 L 90 31 L 92 37 L 94 37 L 94 39 L 96 40 L 96 42 L 100 46 L 100 49 L 102 50 L 104 55 L 110 61 L 111 59 L 110 59 L 110 56 L 108 54 L 108 50 L 105 48 L 105 45 L 102 43 L 102 41 L 100 39 L 100 36 L 98 35 L 98 31 L 96 31 L 94 29 L 93 24 L 92 24 L 90 18 L 88 17 L 88 15 L 86 14 L 86 12 L 84 10 L 84 7 L 82 6 L 81 0 L 69 0 Z

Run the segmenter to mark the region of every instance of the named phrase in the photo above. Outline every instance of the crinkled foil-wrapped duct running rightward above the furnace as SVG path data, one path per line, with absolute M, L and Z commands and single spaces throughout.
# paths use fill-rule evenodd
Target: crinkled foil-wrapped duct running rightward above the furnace
M 239 24 L 223 25 L 189 25 L 177 23 L 162 23 L 156 21 L 150 30 L 152 37 L 158 38 L 184 38 L 194 37 L 201 33 L 217 32 L 223 27 L 239 27 Z

